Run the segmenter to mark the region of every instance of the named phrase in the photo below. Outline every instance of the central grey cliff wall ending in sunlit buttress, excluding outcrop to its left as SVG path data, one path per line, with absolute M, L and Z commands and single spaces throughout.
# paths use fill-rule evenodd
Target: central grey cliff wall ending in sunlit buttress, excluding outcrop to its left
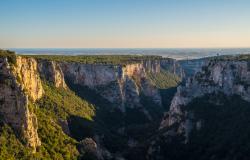
M 121 109 L 125 105 L 140 106 L 140 94 L 152 97 L 161 105 L 157 88 L 146 78 L 147 72 L 160 72 L 160 61 L 125 66 L 79 63 L 61 63 L 60 66 L 71 82 L 96 90 L 110 102 L 120 105 Z

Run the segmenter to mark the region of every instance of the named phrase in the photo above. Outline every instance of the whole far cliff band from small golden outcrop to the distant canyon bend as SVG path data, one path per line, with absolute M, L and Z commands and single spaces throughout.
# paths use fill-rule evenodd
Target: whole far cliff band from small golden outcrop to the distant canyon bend
M 64 78 L 70 83 L 87 86 L 98 92 L 124 110 L 125 106 L 138 107 L 140 96 L 150 97 L 161 106 L 159 90 L 147 77 L 147 73 L 159 73 L 166 69 L 183 76 L 181 67 L 175 60 L 144 60 L 125 65 L 82 64 L 74 62 L 54 62 L 38 60 L 42 78 L 56 87 L 66 88 Z

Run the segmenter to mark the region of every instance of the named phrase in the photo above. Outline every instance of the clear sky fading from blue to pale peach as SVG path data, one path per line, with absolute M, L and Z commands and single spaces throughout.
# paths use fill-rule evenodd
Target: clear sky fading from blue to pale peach
M 0 48 L 239 47 L 249 0 L 0 0 Z

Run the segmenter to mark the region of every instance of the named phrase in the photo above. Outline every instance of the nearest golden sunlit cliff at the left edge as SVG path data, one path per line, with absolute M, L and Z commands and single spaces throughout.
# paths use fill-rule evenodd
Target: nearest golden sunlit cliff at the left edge
M 41 142 L 37 134 L 36 115 L 30 111 L 28 104 L 29 99 L 37 100 L 43 94 L 36 74 L 36 62 L 34 59 L 18 58 L 16 66 L 10 66 L 7 59 L 1 58 L 0 75 L 0 114 L 35 152 Z M 17 79 L 20 81 L 17 82 Z

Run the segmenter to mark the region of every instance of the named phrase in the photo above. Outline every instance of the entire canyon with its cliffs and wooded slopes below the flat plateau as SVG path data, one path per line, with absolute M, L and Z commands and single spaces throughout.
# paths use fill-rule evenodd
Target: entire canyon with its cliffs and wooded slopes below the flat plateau
M 233 115 L 226 107 L 234 109 L 231 99 L 237 109 L 250 103 L 244 58 L 121 56 L 126 63 L 91 64 L 53 58 L 0 54 L 1 124 L 10 127 L 27 159 L 199 159 L 198 151 L 196 157 L 186 153 L 199 147 L 197 135 L 213 118 L 206 109 L 219 106 Z M 57 148 L 61 144 L 67 149 Z

